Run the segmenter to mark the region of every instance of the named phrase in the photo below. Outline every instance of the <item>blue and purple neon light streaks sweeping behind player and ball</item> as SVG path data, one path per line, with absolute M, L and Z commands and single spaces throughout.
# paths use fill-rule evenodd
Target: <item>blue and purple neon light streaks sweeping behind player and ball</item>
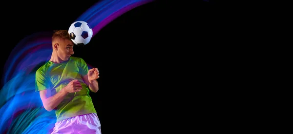
M 89 23 L 95 36 L 112 20 L 152 1 L 102 0 L 75 21 Z M 41 32 L 23 38 L 9 55 L 1 81 L 0 134 L 49 134 L 52 131 L 56 122 L 55 112 L 42 108 L 39 93 L 35 92 L 35 71 L 51 57 L 51 34 Z

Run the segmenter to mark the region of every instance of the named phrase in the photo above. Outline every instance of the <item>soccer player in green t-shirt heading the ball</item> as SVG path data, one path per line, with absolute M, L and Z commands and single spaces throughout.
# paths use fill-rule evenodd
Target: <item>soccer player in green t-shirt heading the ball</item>
M 47 111 L 57 117 L 51 134 L 101 134 L 101 124 L 89 92 L 98 92 L 99 70 L 72 57 L 74 43 L 67 30 L 52 35 L 52 55 L 36 71 L 36 92 Z

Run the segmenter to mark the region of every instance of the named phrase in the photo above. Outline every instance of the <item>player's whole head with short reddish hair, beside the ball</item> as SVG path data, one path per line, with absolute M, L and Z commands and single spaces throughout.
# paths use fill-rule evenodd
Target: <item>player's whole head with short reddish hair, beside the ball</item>
M 59 60 L 65 61 L 73 55 L 73 46 L 74 43 L 70 39 L 67 30 L 54 31 L 52 36 L 52 47 L 53 52 L 56 52 L 56 56 Z

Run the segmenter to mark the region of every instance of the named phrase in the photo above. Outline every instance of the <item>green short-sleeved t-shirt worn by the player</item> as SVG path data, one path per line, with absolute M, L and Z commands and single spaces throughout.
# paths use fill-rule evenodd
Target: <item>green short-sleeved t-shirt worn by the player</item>
M 57 122 L 76 115 L 97 113 L 89 96 L 90 90 L 82 78 L 87 72 L 87 64 L 80 57 L 70 57 L 67 61 L 58 64 L 47 61 L 36 71 L 36 92 L 47 89 L 52 94 L 58 93 L 74 79 L 77 79 L 83 87 L 76 94 L 69 93 L 57 106 L 55 111 Z

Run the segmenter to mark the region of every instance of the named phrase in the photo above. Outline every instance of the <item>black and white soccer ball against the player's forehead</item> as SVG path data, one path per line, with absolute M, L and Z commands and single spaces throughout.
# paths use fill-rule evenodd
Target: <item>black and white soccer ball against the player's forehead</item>
M 73 43 L 78 46 L 86 45 L 93 36 L 93 30 L 85 21 L 73 22 L 68 29 L 68 33 Z

